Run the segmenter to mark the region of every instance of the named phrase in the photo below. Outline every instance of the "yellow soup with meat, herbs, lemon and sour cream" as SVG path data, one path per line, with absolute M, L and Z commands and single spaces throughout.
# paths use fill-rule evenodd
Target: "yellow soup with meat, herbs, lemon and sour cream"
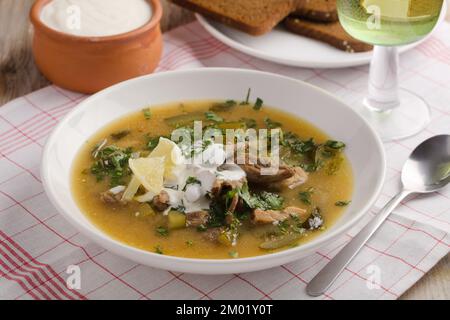
M 174 138 L 178 132 L 184 136 Z M 73 166 L 73 192 L 97 227 L 128 245 L 179 257 L 251 257 L 301 245 L 335 222 L 352 195 L 344 149 L 261 99 L 174 103 L 91 137 Z

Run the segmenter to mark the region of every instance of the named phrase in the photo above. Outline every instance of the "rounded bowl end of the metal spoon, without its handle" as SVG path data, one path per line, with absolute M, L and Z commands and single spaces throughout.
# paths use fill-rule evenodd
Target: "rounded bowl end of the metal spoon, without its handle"
M 411 192 L 429 193 L 450 182 L 450 135 L 434 136 L 411 153 L 402 170 L 402 183 Z

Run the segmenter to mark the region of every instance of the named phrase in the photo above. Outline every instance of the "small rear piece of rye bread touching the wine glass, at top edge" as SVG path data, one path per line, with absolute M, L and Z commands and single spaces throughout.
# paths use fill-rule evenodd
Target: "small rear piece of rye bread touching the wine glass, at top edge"
M 338 21 L 336 0 L 305 0 L 292 15 L 320 22 Z

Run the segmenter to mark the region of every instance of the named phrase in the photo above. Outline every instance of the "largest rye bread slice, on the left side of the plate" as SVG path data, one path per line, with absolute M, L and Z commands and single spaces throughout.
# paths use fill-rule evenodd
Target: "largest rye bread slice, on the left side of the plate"
M 251 35 L 262 35 L 305 0 L 171 0 Z

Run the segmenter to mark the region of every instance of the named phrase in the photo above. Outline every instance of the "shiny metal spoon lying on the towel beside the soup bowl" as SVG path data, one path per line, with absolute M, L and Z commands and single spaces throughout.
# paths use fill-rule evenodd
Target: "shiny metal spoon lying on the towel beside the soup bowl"
M 372 219 L 306 287 L 310 296 L 320 296 L 333 284 L 391 212 L 412 193 L 430 193 L 450 182 L 450 135 L 422 142 L 409 156 L 402 170 L 402 190 Z

